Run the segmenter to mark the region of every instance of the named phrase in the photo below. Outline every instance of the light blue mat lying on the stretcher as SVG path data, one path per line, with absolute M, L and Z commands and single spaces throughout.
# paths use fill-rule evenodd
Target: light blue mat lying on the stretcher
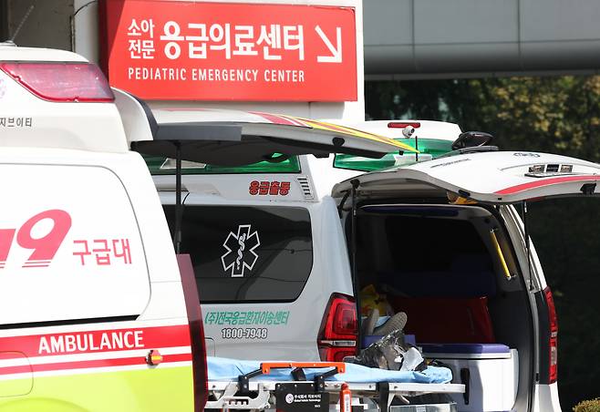
M 225 357 L 207 357 L 208 378 L 215 381 L 235 381 L 238 376 L 245 375 L 261 367 L 261 362 L 228 359 Z M 328 368 L 305 368 L 305 375 L 312 380 L 323 374 Z M 292 369 L 272 369 L 269 375 L 261 375 L 254 380 L 286 380 L 292 381 Z M 452 372 L 447 367 L 429 366 L 422 372 L 400 372 L 373 367 L 346 364 L 346 373 L 331 376 L 326 380 L 341 381 L 354 384 L 374 382 L 446 384 L 452 380 Z

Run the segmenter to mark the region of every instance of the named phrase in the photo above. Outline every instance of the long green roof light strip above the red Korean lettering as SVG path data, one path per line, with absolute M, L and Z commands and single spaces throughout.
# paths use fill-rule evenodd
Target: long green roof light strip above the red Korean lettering
M 216 166 L 193 161 L 181 161 L 181 174 L 237 174 L 237 173 L 299 173 L 300 161 L 297 157 L 279 160 L 274 153 L 272 161 L 260 161 L 246 166 Z M 157 156 L 143 156 L 152 175 L 175 174 L 175 160 Z

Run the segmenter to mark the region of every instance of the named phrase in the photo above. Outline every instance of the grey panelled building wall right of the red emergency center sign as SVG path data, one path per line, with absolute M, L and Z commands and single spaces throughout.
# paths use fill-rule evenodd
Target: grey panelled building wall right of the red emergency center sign
M 368 0 L 368 78 L 600 68 L 597 0 Z

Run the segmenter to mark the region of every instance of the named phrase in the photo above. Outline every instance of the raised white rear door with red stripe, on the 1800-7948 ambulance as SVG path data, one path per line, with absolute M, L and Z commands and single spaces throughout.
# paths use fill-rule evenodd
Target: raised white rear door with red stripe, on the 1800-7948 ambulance
M 556 196 L 600 193 L 600 165 L 565 156 L 523 151 L 491 151 L 424 161 L 371 172 L 357 178 L 357 193 L 434 187 L 483 203 L 515 203 Z M 334 196 L 350 182 L 334 188 Z

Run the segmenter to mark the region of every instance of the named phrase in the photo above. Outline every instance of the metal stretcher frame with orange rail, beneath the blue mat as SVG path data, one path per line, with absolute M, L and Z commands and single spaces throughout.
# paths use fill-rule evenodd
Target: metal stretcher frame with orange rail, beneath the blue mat
M 214 400 L 206 403 L 207 409 L 243 409 L 243 410 L 266 410 L 274 409 L 274 392 L 278 384 L 295 384 L 299 382 L 310 382 L 303 379 L 303 368 L 310 367 L 333 367 L 324 374 L 317 375 L 314 379 L 318 391 L 332 395 L 339 395 L 343 384 L 347 384 L 352 393 L 353 404 L 360 403 L 360 398 L 368 398 L 373 401 L 371 405 L 377 405 L 379 412 L 388 412 L 392 401 L 398 398 L 403 404 L 409 404 L 406 397 L 416 397 L 428 394 L 463 394 L 465 386 L 462 384 L 426 384 L 426 383 L 352 383 L 342 381 L 326 381 L 326 377 L 334 376 L 345 371 L 345 365 L 341 362 L 326 363 L 263 363 L 261 368 L 250 374 L 238 377 L 238 381 L 216 381 L 209 380 L 209 395 Z M 274 368 L 293 368 L 292 375 L 296 380 L 253 380 L 250 378 L 268 375 Z M 336 397 L 332 397 L 336 398 Z M 331 404 L 335 407 L 336 404 Z M 387 405 L 382 410 L 381 405 Z

